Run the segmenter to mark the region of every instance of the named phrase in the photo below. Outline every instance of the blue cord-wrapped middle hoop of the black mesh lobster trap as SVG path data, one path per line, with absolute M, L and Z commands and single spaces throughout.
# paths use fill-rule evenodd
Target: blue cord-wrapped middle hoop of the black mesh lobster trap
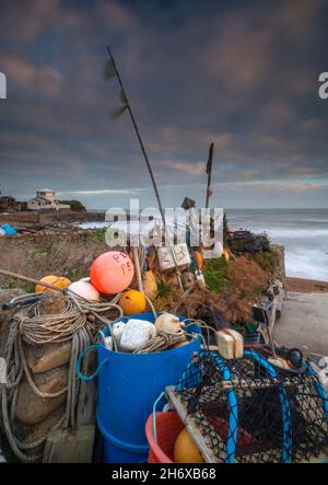
M 277 379 L 278 372 L 276 369 L 261 356 L 256 354 L 253 350 L 245 350 L 244 355 L 246 357 L 250 357 L 253 360 L 262 366 L 270 378 Z M 279 388 L 279 399 L 281 403 L 281 412 L 282 412 L 282 434 L 283 434 L 283 444 L 282 444 L 282 461 L 284 463 L 291 463 L 292 458 L 292 418 L 291 418 L 291 409 L 290 403 L 285 393 L 283 385 L 278 384 Z

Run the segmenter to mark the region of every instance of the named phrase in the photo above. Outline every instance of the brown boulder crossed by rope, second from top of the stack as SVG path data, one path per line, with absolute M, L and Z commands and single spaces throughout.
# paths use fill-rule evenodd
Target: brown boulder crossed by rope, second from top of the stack
M 35 385 L 42 392 L 55 393 L 67 385 L 68 368 L 60 367 L 49 372 L 34 374 Z M 27 381 L 19 385 L 15 416 L 22 423 L 36 424 L 49 416 L 66 401 L 67 393 L 57 397 L 39 397 Z

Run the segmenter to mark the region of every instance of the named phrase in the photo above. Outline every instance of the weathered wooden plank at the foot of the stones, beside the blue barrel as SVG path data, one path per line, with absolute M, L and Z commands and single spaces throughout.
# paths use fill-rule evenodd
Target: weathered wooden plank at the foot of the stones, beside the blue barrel
M 48 435 L 43 463 L 91 463 L 95 427 L 55 429 Z

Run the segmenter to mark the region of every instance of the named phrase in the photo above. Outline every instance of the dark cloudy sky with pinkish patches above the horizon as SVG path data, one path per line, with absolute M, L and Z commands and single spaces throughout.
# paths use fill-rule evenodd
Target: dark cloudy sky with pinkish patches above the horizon
M 0 188 L 154 205 L 109 43 L 164 204 L 328 208 L 327 0 L 0 0 Z

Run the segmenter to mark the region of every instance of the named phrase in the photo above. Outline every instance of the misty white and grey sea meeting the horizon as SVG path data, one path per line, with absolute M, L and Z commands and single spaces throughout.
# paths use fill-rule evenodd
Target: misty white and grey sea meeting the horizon
M 328 209 L 225 209 L 229 226 L 285 247 L 288 276 L 328 281 Z M 83 228 L 105 227 L 89 222 Z

